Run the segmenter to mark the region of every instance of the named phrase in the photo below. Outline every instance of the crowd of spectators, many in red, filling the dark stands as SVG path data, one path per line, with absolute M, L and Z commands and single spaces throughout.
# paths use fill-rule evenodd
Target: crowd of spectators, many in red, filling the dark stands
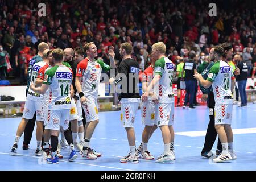
M 94 42 L 98 58 L 109 64 L 106 51 L 133 44 L 133 58 L 141 71 L 150 63 L 152 44 L 166 44 L 167 57 L 174 64 L 187 60 L 195 51 L 197 65 L 209 61 L 213 45 L 230 42 L 234 53 L 254 76 L 256 62 L 256 9 L 240 0 L 217 1 L 217 16 L 210 17 L 209 1 L 44 1 L 46 16 L 38 16 L 41 1 L 0 1 L 0 79 L 20 78 L 26 84 L 27 65 L 46 42 L 50 49 L 83 47 Z M 10 61 L 11 68 L 7 69 Z M 237 59 L 233 61 L 235 67 Z

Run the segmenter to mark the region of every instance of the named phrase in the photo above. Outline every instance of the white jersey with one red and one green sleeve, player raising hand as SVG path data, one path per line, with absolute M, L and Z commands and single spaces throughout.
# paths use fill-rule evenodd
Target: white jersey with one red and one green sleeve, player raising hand
M 98 96 L 102 69 L 108 71 L 110 67 L 101 60 L 92 62 L 85 58 L 77 65 L 76 76 L 82 77 L 81 86 L 85 96 Z

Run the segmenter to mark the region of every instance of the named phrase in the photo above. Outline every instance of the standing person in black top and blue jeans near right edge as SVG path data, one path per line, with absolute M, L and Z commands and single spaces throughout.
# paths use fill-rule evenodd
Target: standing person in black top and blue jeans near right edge
M 249 50 L 249 48 L 247 49 Z M 246 51 L 247 51 L 246 50 Z M 248 66 L 246 61 L 242 59 L 241 55 L 238 55 L 238 63 L 237 68 L 240 69 L 240 75 L 236 76 L 236 80 L 238 83 L 238 89 L 241 97 L 241 107 L 247 106 L 247 95 L 246 95 L 246 82 L 248 76 Z

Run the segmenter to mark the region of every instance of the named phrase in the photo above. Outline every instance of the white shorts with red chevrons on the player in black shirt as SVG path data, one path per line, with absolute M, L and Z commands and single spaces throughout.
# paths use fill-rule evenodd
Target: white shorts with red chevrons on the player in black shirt
M 139 98 L 122 98 L 120 119 L 123 127 L 133 127 L 139 109 Z

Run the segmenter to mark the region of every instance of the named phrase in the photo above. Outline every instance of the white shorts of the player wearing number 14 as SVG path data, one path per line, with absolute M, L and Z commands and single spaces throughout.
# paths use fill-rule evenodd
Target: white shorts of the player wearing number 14
M 62 126 L 63 130 L 68 129 L 70 109 L 49 110 L 48 112 L 50 119 L 47 121 L 45 129 L 59 130 L 59 126 Z

